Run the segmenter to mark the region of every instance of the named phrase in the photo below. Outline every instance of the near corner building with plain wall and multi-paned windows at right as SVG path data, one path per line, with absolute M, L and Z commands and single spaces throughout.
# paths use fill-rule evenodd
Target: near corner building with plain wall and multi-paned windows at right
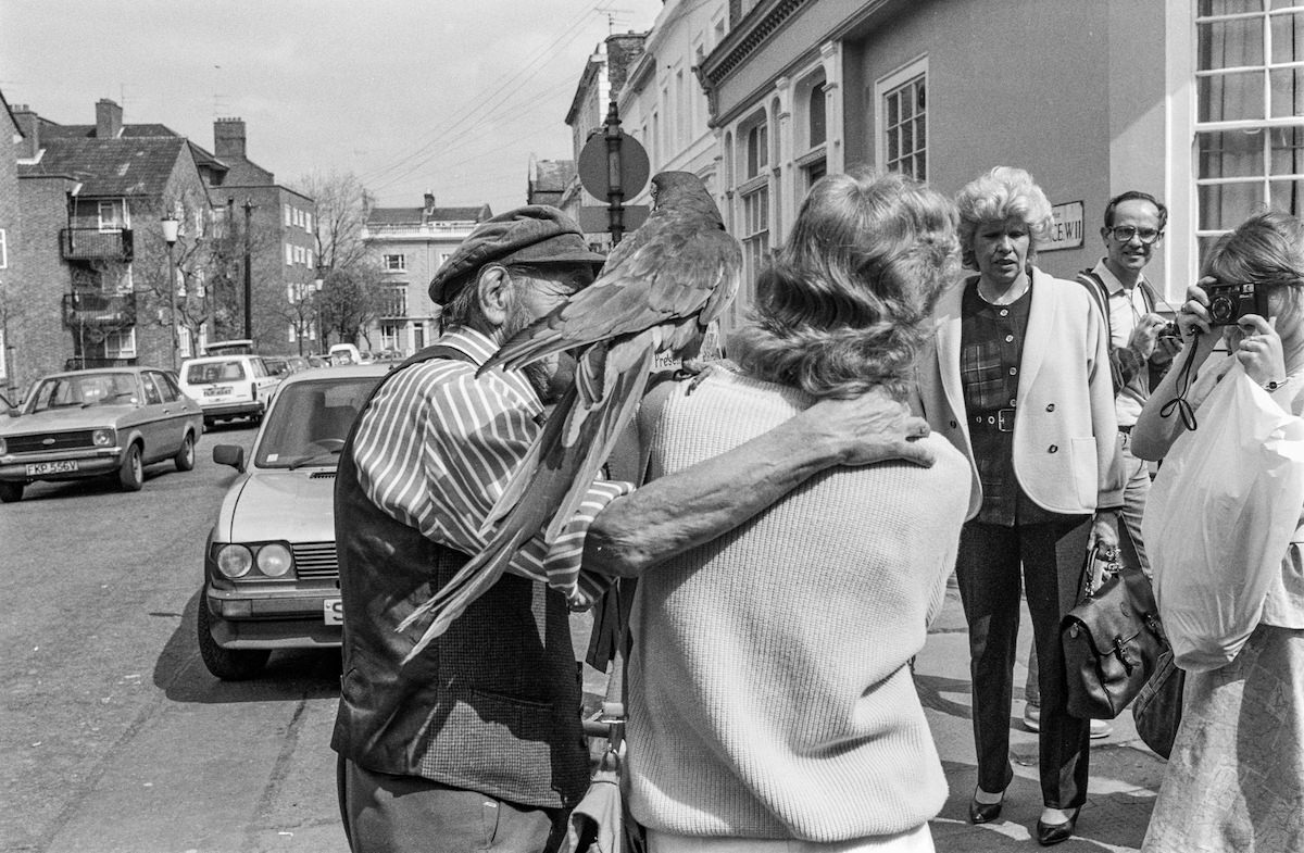
M 1055 274 L 1103 253 L 1104 202 L 1167 202 L 1170 299 L 1256 210 L 1300 210 L 1304 9 L 1281 0 L 732 0 L 700 63 L 721 202 L 751 279 L 810 184 L 854 163 L 953 194 L 999 164 L 1056 206 Z

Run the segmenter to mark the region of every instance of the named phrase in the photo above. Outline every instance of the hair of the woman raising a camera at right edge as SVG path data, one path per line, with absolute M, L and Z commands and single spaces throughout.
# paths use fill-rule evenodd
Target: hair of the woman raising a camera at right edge
M 1304 307 L 1304 220 L 1275 211 L 1251 217 L 1218 237 L 1202 274 L 1222 284 L 1265 287 L 1273 313 L 1297 317 Z

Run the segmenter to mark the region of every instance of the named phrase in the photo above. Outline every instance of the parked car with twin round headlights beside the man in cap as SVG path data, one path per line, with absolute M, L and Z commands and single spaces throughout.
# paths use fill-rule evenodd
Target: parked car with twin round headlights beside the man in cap
M 282 383 L 250 458 L 218 445 L 241 472 L 209 535 L 200 595 L 203 664 L 218 678 L 253 678 L 271 650 L 339 646 L 335 466 L 382 365 L 314 368 Z

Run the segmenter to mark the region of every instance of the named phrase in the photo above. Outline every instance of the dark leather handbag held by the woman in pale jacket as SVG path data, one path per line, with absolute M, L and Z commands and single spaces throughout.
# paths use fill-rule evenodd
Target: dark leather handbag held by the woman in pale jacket
M 1088 554 L 1084 574 L 1090 579 Z M 1121 566 L 1099 587 L 1088 583 L 1082 600 L 1060 621 L 1068 677 L 1068 712 L 1112 720 L 1132 702 L 1167 651 L 1150 579 Z

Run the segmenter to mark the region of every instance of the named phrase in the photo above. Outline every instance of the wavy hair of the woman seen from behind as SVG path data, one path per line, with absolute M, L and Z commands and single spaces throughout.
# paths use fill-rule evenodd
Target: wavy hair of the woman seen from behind
M 814 397 L 906 393 L 926 322 L 957 270 L 955 206 L 901 175 L 827 175 L 760 274 L 730 342 L 752 376 Z M 737 350 L 737 352 L 733 352 Z

